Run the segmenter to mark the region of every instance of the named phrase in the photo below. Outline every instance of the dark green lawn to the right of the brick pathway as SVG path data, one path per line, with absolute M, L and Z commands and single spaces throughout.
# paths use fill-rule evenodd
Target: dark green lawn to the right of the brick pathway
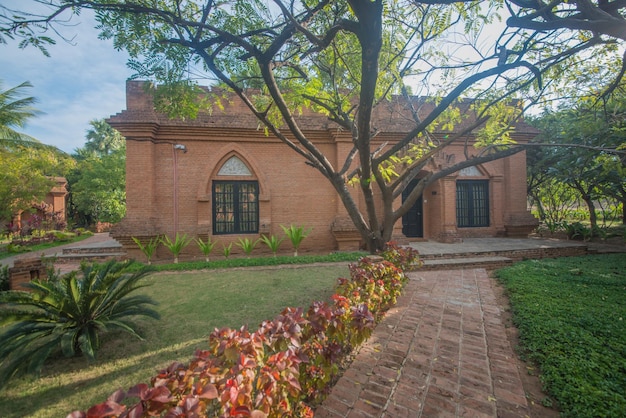
M 520 353 L 538 365 L 562 416 L 624 416 L 626 255 L 530 260 L 498 277 Z

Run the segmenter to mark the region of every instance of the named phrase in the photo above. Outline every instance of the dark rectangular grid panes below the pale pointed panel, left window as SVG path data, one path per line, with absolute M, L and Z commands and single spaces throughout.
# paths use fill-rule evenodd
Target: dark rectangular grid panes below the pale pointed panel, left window
M 213 234 L 259 232 L 259 183 L 213 182 Z

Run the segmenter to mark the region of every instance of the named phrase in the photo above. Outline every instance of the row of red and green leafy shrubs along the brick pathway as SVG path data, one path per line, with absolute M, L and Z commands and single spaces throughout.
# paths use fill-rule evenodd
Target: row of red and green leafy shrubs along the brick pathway
M 312 417 L 330 391 L 339 366 L 366 340 L 393 306 L 406 281 L 402 269 L 418 262 L 417 252 L 390 245 L 383 261 L 365 258 L 339 279 L 329 303 L 308 311 L 286 308 L 258 330 L 215 330 L 206 350 L 188 365 L 174 363 L 154 376 L 111 395 L 82 417 Z

